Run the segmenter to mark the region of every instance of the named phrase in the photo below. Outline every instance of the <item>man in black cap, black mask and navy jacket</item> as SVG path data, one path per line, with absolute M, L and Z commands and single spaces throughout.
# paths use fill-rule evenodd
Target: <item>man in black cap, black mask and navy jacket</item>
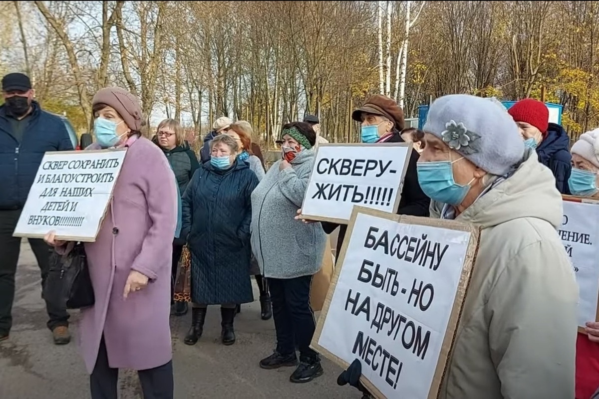
M 43 111 L 33 100 L 29 77 L 8 74 L 2 78 L 4 105 L 0 106 L 0 341 L 12 327 L 14 277 L 19 263 L 21 239 L 14 228 L 27 200 L 38 167 L 46 151 L 73 150 L 65 124 L 56 115 Z M 29 239 L 41 270 L 42 285 L 50 267 L 50 247 L 43 239 Z M 46 303 L 54 342 L 68 343 L 69 314 Z

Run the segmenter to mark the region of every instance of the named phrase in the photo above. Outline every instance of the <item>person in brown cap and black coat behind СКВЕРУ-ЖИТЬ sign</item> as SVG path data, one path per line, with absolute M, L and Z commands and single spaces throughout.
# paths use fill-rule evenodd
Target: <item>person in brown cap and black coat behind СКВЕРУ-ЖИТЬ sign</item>
M 371 96 L 366 103 L 352 112 L 352 119 L 362 123 L 364 126 L 376 126 L 376 133 L 362 132 L 362 142 L 404 142 L 400 132 L 404 128 L 404 112 L 397 103 L 383 95 Z M 371 131 L 374 129 L 370 129 Z M 428 207 L 431 199 L 423 193 L 418 183 L 418 173 L 416 173 L 416 162 L 418 162 L 419 154 L 417 151 L 412 151 L 410 162 L 406 170 L 404 178 L 404 187 L 401 191 L 400 205 L 397 208 L 397 213 L 400 215 L 412 215 L 428 217 Z M 322 222 L 322 229 L 327 234 L 331 234 L 339 226 L 339 238 L 337 240 L 337 257 L 341 251 L 341 244 L 347 231 L 346 224 L 335 224 Z

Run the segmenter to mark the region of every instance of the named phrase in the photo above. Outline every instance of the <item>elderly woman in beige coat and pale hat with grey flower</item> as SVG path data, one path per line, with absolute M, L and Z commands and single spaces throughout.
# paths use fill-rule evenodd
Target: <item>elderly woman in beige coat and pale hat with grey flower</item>
M 551 171 L 488 99 L 443 96 L 423 131 L 420 187 L 482 229 L 438 397 L 573 398 L 578 291 Z

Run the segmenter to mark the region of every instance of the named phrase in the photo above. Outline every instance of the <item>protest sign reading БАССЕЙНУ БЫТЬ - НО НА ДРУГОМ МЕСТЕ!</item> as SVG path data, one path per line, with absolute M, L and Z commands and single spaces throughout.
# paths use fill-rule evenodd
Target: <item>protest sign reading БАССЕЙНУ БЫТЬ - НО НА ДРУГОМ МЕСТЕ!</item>
M 378 399 L 437 398 L 478 243 L 470 224 L 355 206 L 311 345 L 359 359 Z

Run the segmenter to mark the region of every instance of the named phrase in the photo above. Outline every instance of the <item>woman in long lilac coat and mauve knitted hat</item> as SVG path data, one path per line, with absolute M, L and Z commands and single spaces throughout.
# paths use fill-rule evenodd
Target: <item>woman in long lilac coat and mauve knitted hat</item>
M 141 108 L 117 87 L 93 98 L 96 142 L 128 147 L 95 242 L 85 243 L 95 304 L 81 310 L 92 399 L 117 399 L 119 368 L 138 370 L 144 399 L 173 398 L 169 327 L 177 188 L 162 151 L 141 136 Z M 65 248 L 66 242 L 46 242 Z

